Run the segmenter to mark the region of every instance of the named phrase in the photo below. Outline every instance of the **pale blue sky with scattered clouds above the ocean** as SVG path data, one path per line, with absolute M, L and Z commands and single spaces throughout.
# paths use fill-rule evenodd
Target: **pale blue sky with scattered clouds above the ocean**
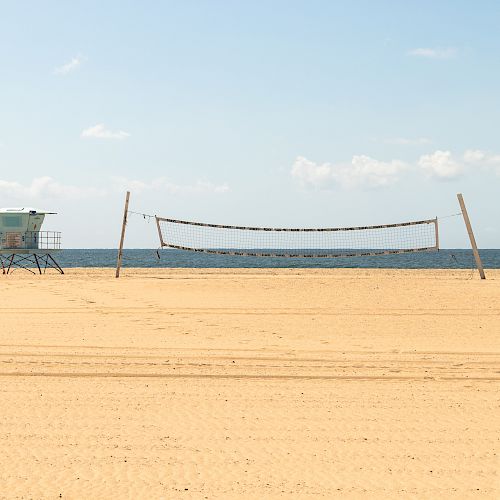
M 500 2 L 0 0 L 0 206 L 116 248 L 456 214 L 500 248 Z M 50 218 L 49 218 L 50 217 Z M 460 217 L 443 247 L 467 248 Z M 125 246 L 156 248 L 131 215 Z

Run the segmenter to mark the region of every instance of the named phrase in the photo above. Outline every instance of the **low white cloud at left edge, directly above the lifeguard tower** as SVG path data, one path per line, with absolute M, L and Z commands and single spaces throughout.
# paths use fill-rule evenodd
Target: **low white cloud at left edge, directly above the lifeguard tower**
M 28 185 L 0 179 L 0 194 L 7 199 L 25 202 L 33 199 L 42 200 L 54 198 L 74 200 L 104 196 L 106 192 L 91 187 L 76 187 L 61 184 L 51 177 L 37 177 Z

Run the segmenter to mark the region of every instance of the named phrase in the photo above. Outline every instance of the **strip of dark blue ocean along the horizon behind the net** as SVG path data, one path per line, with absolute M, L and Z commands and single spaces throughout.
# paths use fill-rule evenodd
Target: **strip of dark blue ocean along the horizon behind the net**
M 500 269 L 500 249 L 480 250 L 480 255 L 485 268 Z M 72 249 L 54 254 L 63 268 L 115 267 L 116 256 L 116 249 Z M 475 264 L 472 251 L 463 249 L 335 259 L 239 257 L 174 249 L 134 249 L 124 250 L 123 267 L 473 269 Z

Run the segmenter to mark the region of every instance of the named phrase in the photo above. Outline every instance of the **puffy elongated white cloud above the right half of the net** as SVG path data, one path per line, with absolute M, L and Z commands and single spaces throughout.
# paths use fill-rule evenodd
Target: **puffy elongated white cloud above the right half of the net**
M 378 161 L 369 156 L 355 155 L 350 163 L 316 164 L 303 156 L 297 157 L 292 178 L 303 186 L 328 188 L 338 184 L 343 188 L 381 187 L 393 184 L 407 165 L 398 160 Z

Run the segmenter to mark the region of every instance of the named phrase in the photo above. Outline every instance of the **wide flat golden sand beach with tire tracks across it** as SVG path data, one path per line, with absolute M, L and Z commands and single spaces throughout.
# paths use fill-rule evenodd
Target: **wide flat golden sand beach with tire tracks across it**
M 0 275 L 0 498 L 498 498 L 487 274 Z

